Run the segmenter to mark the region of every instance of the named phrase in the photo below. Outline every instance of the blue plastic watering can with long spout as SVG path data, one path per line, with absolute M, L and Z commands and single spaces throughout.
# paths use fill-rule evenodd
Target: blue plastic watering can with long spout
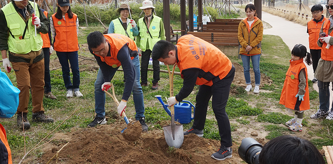
M 165 112 L 168 113 L 168 115 L 171 115 L 171 112 L 168 108 L 168 104 L 164 104 L 162 100 L 162 96 L 156 95 L 155 96 L 159 102 L 163 105 L 163 108 Z M 186 102 L 186 103 L 182 103 Z M 181 124 L 188 124 L 194 119 L 194 112 L 195 112 L 195 106 L 190 102 L 183 100 L 182 102 L 178 102 L 174 104 L 175 106 L 175 121 L 181 123 Z M 193 107 L 193 117 L 192 117 L 192 107 Z

